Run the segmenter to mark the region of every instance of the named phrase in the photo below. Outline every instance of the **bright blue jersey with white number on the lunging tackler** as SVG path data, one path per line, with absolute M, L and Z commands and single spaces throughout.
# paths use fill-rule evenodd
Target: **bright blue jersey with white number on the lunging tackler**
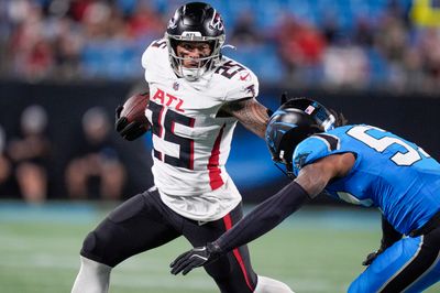
M 353 153 L 353 169 L 326 191 L 352 204 L 378 207 L 394 228 L 408 235 L 440 210 L 440 164 L 421 148 L 388 131 L 345 126 L 304 140 L 294 152 L 294 173 L 337 153 Z

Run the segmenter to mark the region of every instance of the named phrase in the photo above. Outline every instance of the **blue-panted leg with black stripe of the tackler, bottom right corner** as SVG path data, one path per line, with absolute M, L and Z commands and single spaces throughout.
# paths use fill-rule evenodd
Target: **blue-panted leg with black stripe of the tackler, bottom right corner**
M 421 292 L 440 280 L 440 229 L 386 249 L 349 292 Z

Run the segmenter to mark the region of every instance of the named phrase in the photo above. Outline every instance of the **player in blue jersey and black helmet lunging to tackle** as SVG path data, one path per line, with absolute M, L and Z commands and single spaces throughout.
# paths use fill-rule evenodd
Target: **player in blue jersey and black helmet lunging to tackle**
M 440 280 L 440 164 L 421 148 L 376 127 L 342 126 L 334 111 L 305 98 L 271 117 L 266 142 L 293 182 L 216 241 L 178 257 L 172 273 L 252 241 L 326 192 L 383 215 L 381 248 L 348 292 L 421 292 Z

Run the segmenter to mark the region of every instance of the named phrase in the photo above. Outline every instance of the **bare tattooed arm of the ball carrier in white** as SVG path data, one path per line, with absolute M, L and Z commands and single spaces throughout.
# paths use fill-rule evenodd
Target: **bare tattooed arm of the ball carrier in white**
M 268 109 L 254 98 L 227 102 L 220 109 L 219 115 L 235 117 L 246 129 L 264 139 L 264 132 L 268 121 Z

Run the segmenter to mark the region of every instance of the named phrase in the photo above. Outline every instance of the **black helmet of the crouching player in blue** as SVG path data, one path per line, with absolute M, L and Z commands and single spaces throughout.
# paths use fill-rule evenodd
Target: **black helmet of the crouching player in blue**
M 275 163 L 283 163 L 292 173 L 295 148 L 308 137 L 334 128 L 336 117 L 318 101 L 295 98 L 284 102 L 271 117 L 266 143 Z

